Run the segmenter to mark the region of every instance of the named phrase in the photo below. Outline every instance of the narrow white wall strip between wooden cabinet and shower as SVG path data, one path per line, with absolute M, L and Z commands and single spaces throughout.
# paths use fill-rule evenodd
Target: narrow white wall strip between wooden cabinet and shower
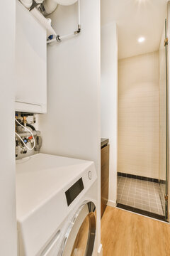
M 101 137 L 109 139 L 108 205 L 115 206 L 118 154 L 118 37 L 114 22 L 101 28 Z

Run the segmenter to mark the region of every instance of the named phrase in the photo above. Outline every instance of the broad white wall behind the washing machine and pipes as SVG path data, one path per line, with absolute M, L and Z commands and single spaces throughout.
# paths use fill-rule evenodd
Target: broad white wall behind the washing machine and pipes
M 77 29 L 76 6 L 58 6 L 51 15 L 57 33 Z M 100 225 L 100 1 L 81 0 L 81 28 L 47 47 L 47 114 L 39 129 L 42 152 L 95 161 Z

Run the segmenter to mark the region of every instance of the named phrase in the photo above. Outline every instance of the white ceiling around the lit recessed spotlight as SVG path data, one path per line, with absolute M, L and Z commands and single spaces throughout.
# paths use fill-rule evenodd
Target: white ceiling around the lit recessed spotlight
M 101 0 L 101 26 L 112 21 L 118 26 L 119 59 L 159 49 L 166 6 L 167 0 Z

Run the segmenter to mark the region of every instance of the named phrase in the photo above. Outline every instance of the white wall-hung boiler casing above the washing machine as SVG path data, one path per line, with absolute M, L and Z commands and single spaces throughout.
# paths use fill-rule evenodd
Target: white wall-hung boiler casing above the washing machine
M 16 1 L 16 111 L 47 112 L 46 29 Z

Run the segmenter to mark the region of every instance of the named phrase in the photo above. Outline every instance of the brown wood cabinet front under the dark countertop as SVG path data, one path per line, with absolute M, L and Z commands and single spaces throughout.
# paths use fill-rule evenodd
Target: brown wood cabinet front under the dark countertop
M 101 217 L 108 203 L 109 145 L 101 149 Z

